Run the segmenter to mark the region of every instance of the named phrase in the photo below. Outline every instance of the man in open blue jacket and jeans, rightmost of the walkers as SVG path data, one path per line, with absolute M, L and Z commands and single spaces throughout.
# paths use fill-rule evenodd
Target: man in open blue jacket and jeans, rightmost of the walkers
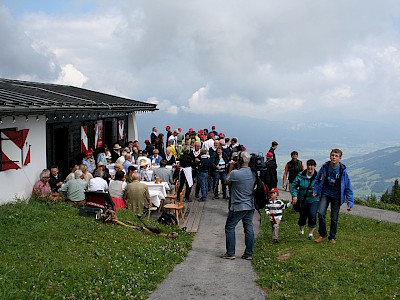
M 330 161 L 326 162 L 318 171 L 315 179 L 313 197 L 319 196 L 321 201 L 318 206 L 318 232 L 319 237 L 315 242 L 322 242 L 327 236 L 326 211 L 331 204 L 331 224 L 329 230 L 329 242 L 336 243 L 336 231 L 339 221 L 340 206 L 347 200 L 347 210 L 350 211 L 354 204 L 353 190 L 347 168 L 340 161 L 342 151 L 333 149 Z

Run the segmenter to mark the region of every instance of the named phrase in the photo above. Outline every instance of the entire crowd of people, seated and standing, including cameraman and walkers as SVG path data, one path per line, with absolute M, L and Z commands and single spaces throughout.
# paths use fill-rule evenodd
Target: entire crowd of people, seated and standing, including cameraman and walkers
M 213 125 L 207 128 L 183 132 L 182 128 L 166 134 L 152 128 L 150 139 L 144 141 L 144 148 L 138 141 L 129 141 L 126 147 L 118 143 L 112 149 L 107 146 L 84 153 L 82 163 L 74 166 L 71 173 L 63 178 L 56 166 L 45 169 L 40 180 L 34 185 L 33 193 L 40 197 L 63 193 L 68 202 L 82 206 L 85 191 L 107 191 L 118 208 L 127 207 L 135 214 L 141 214 L 151 205 L 147 186 L 141 181 L 160 179 L 176 194 L 185 189 L 185 201 L 193 201 L 191 191 L 195 185 L 194 198 L 207 201 L 208 193 L 213 199 L 220 195 L 229 200 L 228 217 L 225 225 L 226 253 L 223 258 L 235 258 L 235 227 L 243 222 L 246 250 L 242 258 L 251 259 L 254 247 L 253 215 L 255 210 L 254 188 L 256 177 L 269 190 L 268 204 L 263 208 L 269 215 L 273 242 L 279 243 L 279 224 L 283 210 L 293 205 L 299 212 L 299 234 L 305 234 L 308 221 L 308 239 L 322 242 L 326 237 L 336 243 L 336 232 L 340 206 L 347 201 L 348 209 L 353 206 L 353 193 L 346 167 L 340 162 L 342 151 L 333 149 L 330 161 L 316 171 L 316 162 L 309 159 L 306 165 L 298 159 L 298 152 L 291 153 L 291 160 L 285 165 L 282 187 L 289 188 L 292 200 L 285 203 L 278 199 L 278 176 L 275 150 L 278 143 L 273 141 L 265 155 L 265 165 L 259 171 L 250 168 L 251 155 L 239 144 L 237 137 L 225 137 Z M 112 168 L 110 168 L 112 166 Z M 111 170 L 113 172 L 111 172 Z M 151 172 L 149 172 L 151 170 Z M 326 229 L 327 208 L 331 205 L 330 231 Z M 318 238 L 314 239 L 317 226 Z

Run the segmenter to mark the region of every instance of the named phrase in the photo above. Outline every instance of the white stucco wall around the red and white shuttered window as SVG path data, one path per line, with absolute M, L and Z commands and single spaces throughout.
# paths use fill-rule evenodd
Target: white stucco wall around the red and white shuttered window
M 31 163 L 18 170 L 0 171 L 0 205 L 17 199 L 28 199 L 32 187 L 39 180 L 40 172 L 46 168 L 46 118 L 44 115 L 3 117 L 0 129 L 29 129 L 26 142 L 31 145 Z

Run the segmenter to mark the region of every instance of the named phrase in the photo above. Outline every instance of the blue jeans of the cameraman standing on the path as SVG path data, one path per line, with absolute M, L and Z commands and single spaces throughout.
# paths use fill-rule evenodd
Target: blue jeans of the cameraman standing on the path
M 246 249 L 244 256 L 253 256 L 254 249 L 254 230 L 253 230 L 253 210 L 229 211 L 225 224 L 226 254 L 235 256 L 236 236 L 235 227 L 242 220 Z

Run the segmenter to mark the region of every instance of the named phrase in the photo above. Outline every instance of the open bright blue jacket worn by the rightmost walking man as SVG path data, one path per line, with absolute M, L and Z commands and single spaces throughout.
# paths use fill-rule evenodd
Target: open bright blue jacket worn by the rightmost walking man
M 331 162 L 327 161 L 324 165 L 319 169 L 317 177 L 315 178 L 314 184 L 314 194 L 317 194 L 320 198 L 322 196 L 325 177 L 327 176 L 327 166 L 329 166 Z M 354 196 L 353 189 L 351 187 L 351 182 L 349 175 L 347 174 L 347 168 L 344 164 L 339 163 L 340 168 L 343 168 L 343 172 L 340 179 L 340 204 L 343 204 L 345 200 L 347 200 L 347 206 L 352 208 L 354 205 Z

